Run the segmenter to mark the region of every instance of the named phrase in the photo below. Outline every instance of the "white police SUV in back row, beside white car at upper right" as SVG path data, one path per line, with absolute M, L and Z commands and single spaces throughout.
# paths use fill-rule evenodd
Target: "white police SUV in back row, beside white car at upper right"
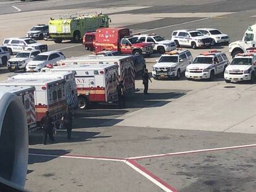
M 203 35 L 197 30 L 176 30 L 171 35 L 171 40 L 176 43 L 176 46 L 186 46 L 193 49 L 211 46 L 211 38 Z

